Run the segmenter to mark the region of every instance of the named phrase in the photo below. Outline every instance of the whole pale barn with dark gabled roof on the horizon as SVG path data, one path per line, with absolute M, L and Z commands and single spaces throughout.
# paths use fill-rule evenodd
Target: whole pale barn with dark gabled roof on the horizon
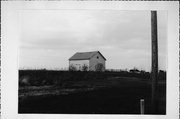
M 69 58 L 69 70 L 105 71 L 106 58 L 99 51 L 77 52 Z

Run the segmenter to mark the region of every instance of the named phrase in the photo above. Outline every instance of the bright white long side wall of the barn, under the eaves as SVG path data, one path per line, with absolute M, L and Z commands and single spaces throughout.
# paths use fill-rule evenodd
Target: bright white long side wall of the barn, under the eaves
M 82 70 L 83 65 L 89 68 L 89 60 L 71 60 L 69 61 L 69 66 L 71 65 L 75 66 L 77 70 Z

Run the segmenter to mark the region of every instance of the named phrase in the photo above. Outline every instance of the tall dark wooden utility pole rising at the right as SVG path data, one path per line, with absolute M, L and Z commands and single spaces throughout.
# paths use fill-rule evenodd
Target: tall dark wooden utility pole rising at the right
M 158 113 L 158 39 L 157 39 L 157 12 L 151 11 L 152 37 L 152 113 Z

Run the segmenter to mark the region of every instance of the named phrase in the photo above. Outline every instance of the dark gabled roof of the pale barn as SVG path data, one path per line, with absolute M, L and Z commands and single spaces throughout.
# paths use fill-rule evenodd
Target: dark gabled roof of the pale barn
M 97 53 L 99 53 L 104 58 L 104 60 L 106 60 L 106 58 L 99 51 L 77 52 L 72 57 L 70 57 L 69 60 L 89 60 Z

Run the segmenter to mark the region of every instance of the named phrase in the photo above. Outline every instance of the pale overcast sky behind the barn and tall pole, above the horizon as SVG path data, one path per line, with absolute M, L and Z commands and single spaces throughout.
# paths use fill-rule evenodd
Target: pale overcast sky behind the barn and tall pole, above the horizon
M 167 14 L 158 11 L 159 69 L 166 68 Z M 100 51 L 107 69 L 151 69 L 150 11 L 24 10 L 19 68 L 61 69 L 76 52 Z

